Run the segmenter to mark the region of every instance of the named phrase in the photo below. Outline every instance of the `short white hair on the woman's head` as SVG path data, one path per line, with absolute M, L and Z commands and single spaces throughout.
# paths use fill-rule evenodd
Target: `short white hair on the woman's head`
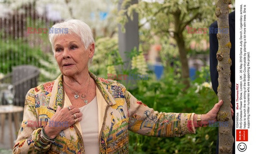
M 53 54 L 55 54 L 55 49 L 54 49 L 55 39 L 58 38 L 60 35 L 67 35 L 67 34 L 77 35 L 78 37 L 81 38 L 81 40 L 84 44 L 84 47 L 86 49 L 89 47 L 90 44 L 95 43 L 91 28 L 82 20 L 69 19 L 66 21 L 55 23 L 55 25 L 53 25 L 52 27 L 54 29 L 55 28 L 61 28 L 61 29 L 68 28 L 68 33 L 66 33 L 66 34 L 65 33 L 59 33 L 59 34 L 49 33 L 49 40 L 52 45 Z M 91 62 L 92 62 L 92 58 L 90 60 L 90 63 Z

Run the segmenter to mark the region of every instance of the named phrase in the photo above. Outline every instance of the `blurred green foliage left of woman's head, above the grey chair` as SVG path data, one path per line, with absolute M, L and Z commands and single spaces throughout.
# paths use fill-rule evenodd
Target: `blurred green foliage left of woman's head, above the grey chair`
M 39 82 L 55 79 L 59 74 L 57 62 L 52 54 L 43 53 L 39 47 L 30 47 L 21 39 L 8 38 L 0 42 L 0 72 L 7 74 L 12 68 L 22 64 L 31 64 L 41 71 Z

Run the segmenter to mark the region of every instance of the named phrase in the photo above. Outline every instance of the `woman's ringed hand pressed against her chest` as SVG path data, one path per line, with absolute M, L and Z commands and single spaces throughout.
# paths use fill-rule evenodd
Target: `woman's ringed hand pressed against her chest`
M 70 110 L 68 108 L 61 109 L 61 107 L 58 106 L 56 113 L 52 116 L 48 125 L 45 126 L 44 131 L 47 136 L 54 139 L 60 131 L 69 128 L 71 125 L 75 124 L 76 121 L 81 121 L 82 115 L 80 110 L 73 106 L 70 106 Z

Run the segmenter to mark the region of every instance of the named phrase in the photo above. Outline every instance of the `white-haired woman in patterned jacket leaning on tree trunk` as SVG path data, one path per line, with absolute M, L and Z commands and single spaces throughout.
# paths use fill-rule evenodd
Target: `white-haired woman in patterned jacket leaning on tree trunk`
M 53 27 L 68 28 L 67 34 L 49 34 L 61 75 L 27 93 L 13 153 L 129 153 L 129 130 L 181 136 L 195 133 L 198 121 L 217 121 L 222 101 L 204 115 L 147 107 L 122 84 L 89 71 L 95 43 L 86 23 L 68 20 Z

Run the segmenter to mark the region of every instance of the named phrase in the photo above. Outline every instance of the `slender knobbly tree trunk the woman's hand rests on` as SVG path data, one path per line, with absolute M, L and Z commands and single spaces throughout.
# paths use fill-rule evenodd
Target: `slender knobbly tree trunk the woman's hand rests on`
M 218 0 L 215 15 L 218 21 L 218 42 L 219 49 L 217 52 L 218 66 L 217 70 L 219 72 L 219 86 L 218 86 L 218 98 L 223 100 L 223 104 L 218 113 L 218 121 L 220 123 L 228 123 L 227 125 L 219 125 L 219 153 L 232 153 L 234 137 L 232 135 L 233 120 L 231 117 L 230 103 L 231 103 L 231 82 L 230 82 L 230 48 L 231 43 L 229 40 L 229 30 L 228 33 L 221 33 L 223 28 L 229 29 L 228 14 L 229 7 L 228 4 L 231 0 Z M 227 126 L 227 127 L 225 127 Z

